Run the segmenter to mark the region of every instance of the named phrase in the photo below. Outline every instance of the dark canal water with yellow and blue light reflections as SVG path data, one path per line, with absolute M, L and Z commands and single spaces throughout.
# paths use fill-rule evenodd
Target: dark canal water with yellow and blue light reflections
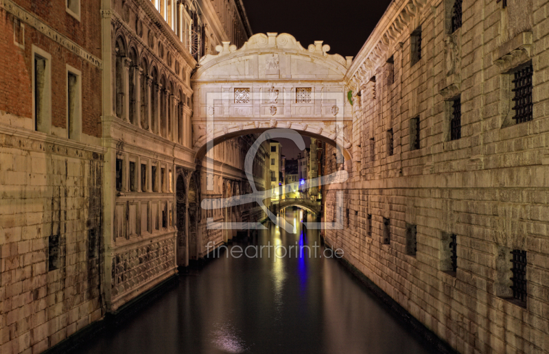
M 269 225 L 229 246 L 320 245 L 318 231 Z M 303 257 L 233 258 L 222 252 L 178 285 L 78 349 L 78 353 L 432 353 L 388 314 L 324 248 Z M 248 249 L 248 255 L 254 254 Z M 282 251 L 281 251 L 282 252 Z M 329 253 L 327 253 L 329 255 Z M 298 254 L 299 256 L 299 254 Z

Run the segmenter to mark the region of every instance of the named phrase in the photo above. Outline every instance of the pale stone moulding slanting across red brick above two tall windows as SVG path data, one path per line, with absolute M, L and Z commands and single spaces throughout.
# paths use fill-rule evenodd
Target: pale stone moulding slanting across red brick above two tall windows
M 15 16 L 17 19 L 23 21 L 24 23 L 27 23 L 27 25 L 30 25 L 41 34 L 44 34 L 49 39 L 54 40 L 54 42 L 59 43 L 63 47 L 69 49 L 69 51 L 72 51 L 77 56 L 80 56 L 80 58 L 91 62 L 91 64 L 95 65 L 95 67 L 98 67 L 100 69 L 103 68 L 103 62 L 100 58 L 97 58 L 93 54 L 84 50 L 84 48 L 74 43 L 72 40 L 67 38 L 67 36 L 64 36 L 60 32 L 56 31 L 56 29 L 49 27 L 49 25 L 47 25 L 45 21 L 40 19 L 35 14 L 31 14 L 11 0 L 0 0 L 0 7 L 3 8 L 6 12 L 9 12 L 13 16 Z

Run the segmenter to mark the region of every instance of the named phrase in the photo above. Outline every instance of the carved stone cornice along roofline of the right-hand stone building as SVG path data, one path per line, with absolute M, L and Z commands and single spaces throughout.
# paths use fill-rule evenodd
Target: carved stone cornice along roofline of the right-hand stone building
M 393 0 L 349 67 L 345 80 L 356 89 L 382 64 L 414 18 L 428 9 L 430 0 Z

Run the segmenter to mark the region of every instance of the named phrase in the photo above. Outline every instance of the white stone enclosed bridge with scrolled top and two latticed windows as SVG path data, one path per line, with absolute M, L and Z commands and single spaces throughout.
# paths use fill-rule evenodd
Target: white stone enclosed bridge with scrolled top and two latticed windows
M 290 128 L 340 147 L 351 159 L 351 100 L 344 75 L 352 57 L 307 49 L 290 34 L 255 34 L 240 49 L 229 42 L 200 60 L 194 73 L 193 148 L 201 160 L 233 137 Z

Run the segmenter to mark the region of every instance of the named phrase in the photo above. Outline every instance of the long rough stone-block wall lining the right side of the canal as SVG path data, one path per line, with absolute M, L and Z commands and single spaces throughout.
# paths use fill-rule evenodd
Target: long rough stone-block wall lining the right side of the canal
M 325 239 L 462 353 L 549 350 L 547 6 L 463 0 L 453 31 L 453 0 L 393 1 L 347 73 L 351 178 L 328 188 L 325 220 L 342 229 Z M 516 123 L 510 76 L 530 60 L 533 120 Z M 526 251 L 525 303 L 512 298 L 511 250 Z

